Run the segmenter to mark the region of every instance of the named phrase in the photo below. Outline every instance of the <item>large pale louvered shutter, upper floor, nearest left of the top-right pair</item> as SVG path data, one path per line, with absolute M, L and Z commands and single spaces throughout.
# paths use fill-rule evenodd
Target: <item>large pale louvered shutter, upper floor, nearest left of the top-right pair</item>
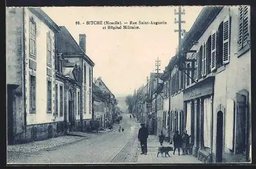
M 230 17 L 229 15 L 223 22 L 223 64 L 229 63 L 230 51 L 229 51 L 229 39 L 230 39 Z

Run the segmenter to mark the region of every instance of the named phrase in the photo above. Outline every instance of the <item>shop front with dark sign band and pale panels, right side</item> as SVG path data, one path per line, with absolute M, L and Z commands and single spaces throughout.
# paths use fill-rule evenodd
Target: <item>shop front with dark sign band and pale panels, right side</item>
M 212 105 L 215 76 L 207 76 L 184 92 L 185 129 L 190 135 L 189 152 L 204 162 L 211 162 Z

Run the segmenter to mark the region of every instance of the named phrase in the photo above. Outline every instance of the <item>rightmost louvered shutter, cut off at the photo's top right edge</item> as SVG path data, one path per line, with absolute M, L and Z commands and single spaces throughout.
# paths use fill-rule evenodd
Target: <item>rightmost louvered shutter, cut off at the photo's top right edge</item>
M 248 6 L 244 6 L 243 9 L 243 46 L 248 44 L 249 41 L 249 18 L 248 18 Z

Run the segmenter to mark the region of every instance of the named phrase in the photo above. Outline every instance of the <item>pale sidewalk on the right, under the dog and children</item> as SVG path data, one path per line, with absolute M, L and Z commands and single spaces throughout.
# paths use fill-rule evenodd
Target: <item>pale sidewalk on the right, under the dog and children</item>
M 170 146 L 167 142 L 163 143 L 163 146 Z M 173 155 L 173 151 L 169 152 L 169 155 L 163 153 L 163 157 L 161 154 L 157 157 L 158 147 L 160 147 L 160 143 L 158 141 L 158 137 L 156 135 L 148 135 L 147 139 L 147 155 L 140 155 L 141 148 L 140 144 L 138 146 L 138 160 L 137 163 L 202 163 L 197 158 L 192 155 L 178 155 L 178 150 L 175 151 L 175 155 Z M 180 153 L 181 154 L 181 153 Z

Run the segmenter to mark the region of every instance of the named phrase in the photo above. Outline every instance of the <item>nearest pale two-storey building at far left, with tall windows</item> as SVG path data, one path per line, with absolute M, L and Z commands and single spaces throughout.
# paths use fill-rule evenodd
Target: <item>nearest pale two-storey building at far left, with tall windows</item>
M 7 8 L 8 144 L 57 135 L 55 38 L 58 25 L 40 8 Z

